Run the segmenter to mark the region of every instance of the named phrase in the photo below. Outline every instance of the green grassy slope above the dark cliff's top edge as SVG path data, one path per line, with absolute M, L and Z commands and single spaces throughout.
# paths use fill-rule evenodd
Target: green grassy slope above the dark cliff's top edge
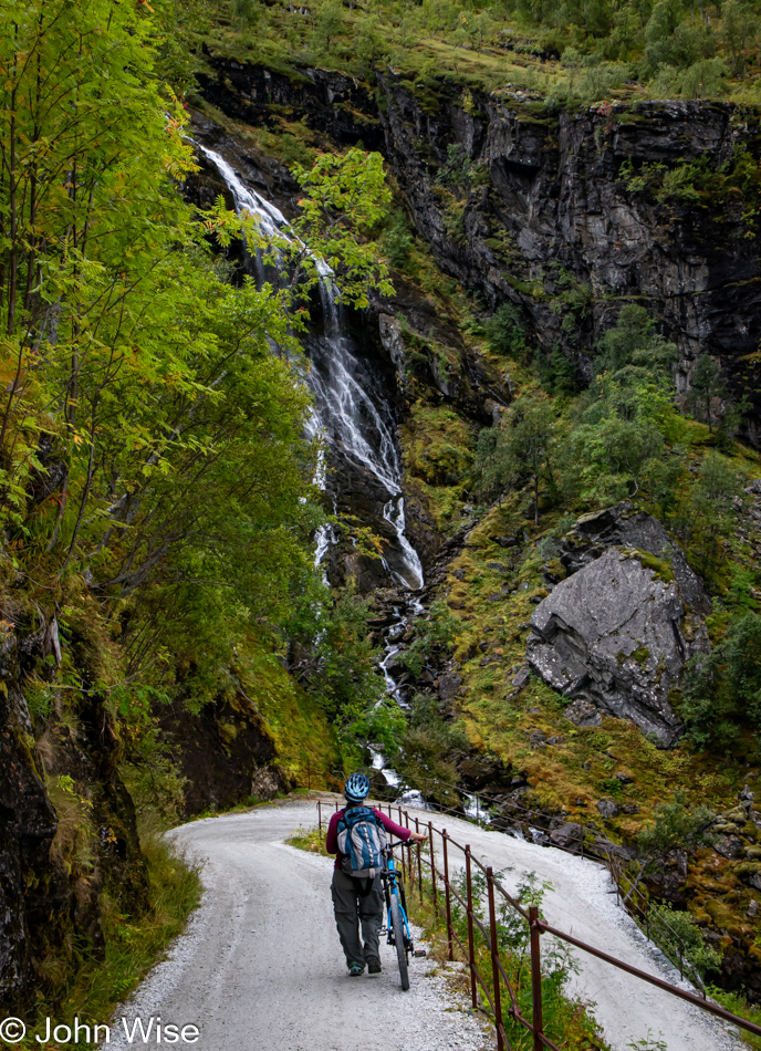
M 629 43 L 623 45 L 615 30 L 607 34 L 601 31 L 597 35 L 586 35 L 574 24 L 560 29 L 532 24 L 508 14 L 504 9 L 492 8 L 490 27 L 479 42 L 463 39 L 460 25 L 462 18 L 466 22 L 472 19 L 477 8 L 481 9 L 480 4 L 463 6 L 457 28 L 455 22 L 447 28 L 441 22 L 438 29 L 431 30 L 434 23 L 426 24 L 419 9 L 410 12 L 400 4 L 365 2 L 352 4 L 351 10 L 343 7 L 338 23 L 329 37 L 323 29 L 327 6 L 327 0 L 315 0 L 309 13 L 302 14 L 298 10 L 289 11 L 285 6 L 252 3 L 248 4 L 251 11 L 247 15 L 236 14 L 241 4 L 231 0 L 212 0 L 205 37 L 213 50 L 243 61 L 262 62 L 292 75 L 299 75 L 299 66 L 319 65 L 353 76 L 367 76 L 373 65 L 387 64 L 416 89 L 424 102 L 430 89 L 440 86 L 445 79 L 450 87 L 462 92 L 468 89 L 510 94 L 522 91 L 535 94 L 535 100 L 560 92 L 573 103 L 586 105 L 604 98 L 635 102 L 663 97 L 663 85 L 657 83 L 655 75 L 640 83 L 633 79 L 638 75 L 637 64 L 642 62 L 645 49 L 639 25 L 633 29 Z M 710 35 L 716 55 L 726 63 L 730 74 L 731 50 L 720 8 L 711 8 L 707 13 L 711 17 Z M 645 13 L 645 19 L 647 17 Z M 377 23 L 371 31 L 368 19 L 373 18 Z M 695 30 L 698 24 L 697 14 L 687 10 L 677 15 L 677 21 L 688 30 Z M 368 33 L 375 35 L 374 45 L 367 44 Z M 569 46 L 576 49 L 582 56 L 596 55 L 595 61 L 613 58 L 624 66 L 629 63 L 629 73 L 619 76 L 612 85 L 604 75 L 586 75 L 586 67 L 574 65 L 571 69 L 569 63 L 559 59 Z M 747 38 L 744 53 L 744 75 L 722 76 L 715 85 L 706 85 L 707 94 L 741 103 L 761 102 L 758 62 L 753 63 L 758 49 L 752 35 Z M 686 97 L 695 96 L 685 90 Z M 697 91 L 697 97 L 701 97 L 702 83 Z M 434 108 L 435 94 L 430 95 Z M 670 87 L 668 97 L 675 94 L 678 90 Z M 521 101 L 532 104 L 531 98 Z

